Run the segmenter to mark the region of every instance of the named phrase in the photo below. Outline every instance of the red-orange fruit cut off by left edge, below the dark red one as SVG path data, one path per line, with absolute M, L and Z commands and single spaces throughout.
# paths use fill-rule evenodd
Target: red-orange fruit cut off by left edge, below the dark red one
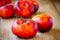
M 2 18 L 9 18 L 12 15 L 13 15 L 13 5 L 11 3 L 0 7 L 0 16 Z

